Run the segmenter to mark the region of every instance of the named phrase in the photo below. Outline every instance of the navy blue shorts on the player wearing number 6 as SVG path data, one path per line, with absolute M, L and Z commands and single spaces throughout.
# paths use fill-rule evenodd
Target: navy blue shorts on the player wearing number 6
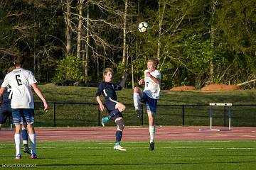
M 34 109 L 33 108 L 14 108 L 12 110 L 14 125 L 33 124 Z

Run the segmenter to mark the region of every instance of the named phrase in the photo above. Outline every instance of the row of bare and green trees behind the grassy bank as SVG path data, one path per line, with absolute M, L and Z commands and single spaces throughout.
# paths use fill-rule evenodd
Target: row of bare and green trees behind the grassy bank
M 0 0 L 1 77 L 23 54 L 41 82 L 100 81 L 112 67 L 133 87 L 157 57 L 164 89 L 238 84 L 256 79 L 255 45 L 256 0 Z

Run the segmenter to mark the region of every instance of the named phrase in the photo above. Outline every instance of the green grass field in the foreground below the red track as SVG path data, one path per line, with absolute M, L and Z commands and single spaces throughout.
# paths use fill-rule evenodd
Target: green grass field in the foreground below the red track
M 33 166 L 33 169 L 256 169 L 256 141 L 156 142 L 154 152 L 149 151 L 148 142 L 122 142 L 122 145 L 127 152 L 115 151 L 112 142 L 39 142 L 38 159 L 23 154 L 23 159 L 16 160 L 14 142 L 2 142 L 0 166 L 2 169 L 21 169 L 17 166 Z

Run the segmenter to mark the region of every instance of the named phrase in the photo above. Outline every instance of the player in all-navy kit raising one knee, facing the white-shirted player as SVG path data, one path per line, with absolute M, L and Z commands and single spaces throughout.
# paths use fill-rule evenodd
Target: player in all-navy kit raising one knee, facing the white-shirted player
M 105 111 L 106 106 L 108 112 L 108 116 L 102 118 L 102 125 L 105 126 L 105 123 L 107 123 L 110 119 L 114 120 L 114 122 L 117 124 L 116 142 L 114 144 L 114 149 L 126 151 L 126 149 L 120 145 L 122 139 L 122 131 L 124 130 L 124 119 L 122 112 L 125 110 L 125 106 L 124 104 L 117 101 L 117 94 L 115 91 L 122 90 L 122 88 L 125 86 L 127 70 L 124 70 L 122 81 L 119 85 L 113 84 L 112 78 L 113 70 L 111 68 L 106 68 L 103 72 L 103 81 L 100 83 L 97 89 L 96 99 L 100 105 L 100 111 Z M 100 100 L 101 94 L 103 94 L 105 97 L 105 106 Z

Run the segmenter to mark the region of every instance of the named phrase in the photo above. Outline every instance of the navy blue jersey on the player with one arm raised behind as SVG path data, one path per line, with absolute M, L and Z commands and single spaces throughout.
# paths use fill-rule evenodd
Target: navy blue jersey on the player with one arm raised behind
M 115 91 L 119 90 L 122 90 L 122 86 L 115 85 L 111 82 L 102 81 L 97 89 L 96 96 L 103 94 L 105 96 L 105 100 L 117 101 L 117 94 Z

